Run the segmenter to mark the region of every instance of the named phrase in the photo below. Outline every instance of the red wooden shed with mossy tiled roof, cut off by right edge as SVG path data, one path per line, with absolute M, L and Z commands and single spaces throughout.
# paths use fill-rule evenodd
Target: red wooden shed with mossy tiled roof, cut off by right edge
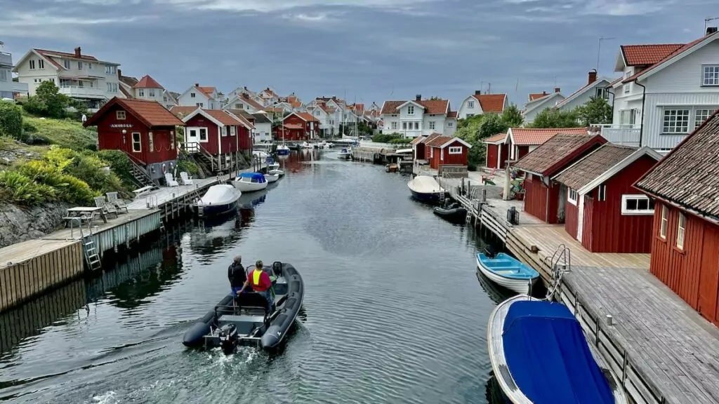
M 719 114 L 634 185 L 656 199 L 651 273 L 719 326 Z

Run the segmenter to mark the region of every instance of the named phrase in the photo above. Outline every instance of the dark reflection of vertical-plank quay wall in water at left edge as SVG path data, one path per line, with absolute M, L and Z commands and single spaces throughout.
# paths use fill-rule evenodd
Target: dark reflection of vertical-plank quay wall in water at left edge
M 83 280 L 53 290 L 50 293 L 0 314 L 0 358 L 20 341 L 42 333 L 42 329 L 71 316 L 86 305 Z

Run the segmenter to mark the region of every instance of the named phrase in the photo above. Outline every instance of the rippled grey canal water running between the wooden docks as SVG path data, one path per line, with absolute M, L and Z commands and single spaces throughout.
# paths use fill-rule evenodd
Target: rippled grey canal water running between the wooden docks
M 293 152 L 237 216 L 168 229 L 1 314 L 0 401 L 487 403 L 487 318 L 506 292 L 475 275 L 481 240 L 413 201 L 407 177 L 335 157 Z M 186 350 L 238 254 L 301 271 L 295 330 L 274 354 Z

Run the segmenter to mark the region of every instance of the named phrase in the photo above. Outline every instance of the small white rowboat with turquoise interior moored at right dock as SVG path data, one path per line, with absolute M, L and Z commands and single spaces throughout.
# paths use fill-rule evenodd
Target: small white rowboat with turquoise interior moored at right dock
M 503 252 L 494 257 L 487 252 L 478 253 L 477 269 L 492 282 L 516 293 L 529 293 L 530 285 L 539 279 L 539 272 Z

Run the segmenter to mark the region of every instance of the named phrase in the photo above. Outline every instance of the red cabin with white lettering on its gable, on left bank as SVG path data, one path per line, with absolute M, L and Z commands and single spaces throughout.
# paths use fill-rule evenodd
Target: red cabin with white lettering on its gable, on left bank
M 175 166 L 175 127 L 180 121 L 157 101 L 114 97 L 91 116 L 85 127 L 97 127 L 100 150 L 122 150 L 153 180 Z

